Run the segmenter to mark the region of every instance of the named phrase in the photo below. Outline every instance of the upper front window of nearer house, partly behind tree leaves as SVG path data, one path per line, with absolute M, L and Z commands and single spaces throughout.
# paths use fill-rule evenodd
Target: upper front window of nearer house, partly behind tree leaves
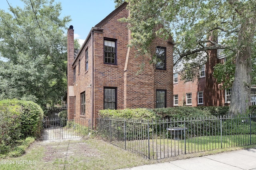
M 166 47 L 156 47 L 156 69 L 166 70 Z

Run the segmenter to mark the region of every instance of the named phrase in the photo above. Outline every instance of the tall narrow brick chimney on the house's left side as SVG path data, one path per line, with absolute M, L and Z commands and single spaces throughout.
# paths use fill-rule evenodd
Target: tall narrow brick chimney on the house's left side
M 74 119 L 74 69 L 72 63 L 74 62 L 74 30 L 73 26 L 70 26 L 68 29 L 68 63 L 67 63 L 67 79 L 68 79 L 68 95 L 67 95 L 67 103 L 68 103 L 68 119 Z

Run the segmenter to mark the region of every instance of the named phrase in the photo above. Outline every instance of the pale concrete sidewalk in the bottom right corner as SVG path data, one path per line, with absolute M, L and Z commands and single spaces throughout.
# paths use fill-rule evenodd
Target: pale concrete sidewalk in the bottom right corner
M 256 148 L 123 170 L 256 170 Z

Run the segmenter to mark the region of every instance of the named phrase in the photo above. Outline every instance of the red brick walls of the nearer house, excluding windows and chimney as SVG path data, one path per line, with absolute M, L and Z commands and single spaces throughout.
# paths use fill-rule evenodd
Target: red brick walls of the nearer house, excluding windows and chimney
M 94 119 L 92 123 L 96 126 L 98 111 L 104 109 L 104 87 L 117 87 L 117 109 L 155 108 L 156 89 L 165 89 L 167 107 L 173 106 L 173 45 L 161 39 L 152 43 L 152 55 L 156 53 L 156 46 L 166 47 L 167 69 L 164 71 L 156 70 L 155 66 L 149 63 L 151 58 L 135 58 L 134 51 L 128 48 L 129 31 L 127 24 L 118 21 L 120 18 L 127 16 L 128 10 L 124 8 L 101 27 L 102 32 L 93 32 L 88 44 L 84 45 L 84 48 L 79 52 L 80 55 L 73 65 L 73 67 L 76 66 L 76 82 L 74 83 L 74 94 L 76 96 L 76 115 L 74 117 L 76 119 L 91 119 L 93 109 Z M 117 65 L 104 64 L 104 38 L 117 40 Z M 92 45 L 94 46 L 93 49 Z M 89 69 L 85 71 L 85 50 L 87 48 Z M 92 67 L 92 59 L 94 67 Z M 80 73 L 78 71 L 79 60 L 81 63 Z M 139 66 L 142 62 L 145 63 L 144 70 L 137 75 L 136 73 L 140 70 Z M 94 73 L 93 82 L 92 68 Z M 69 74 L 73 75 L 71 72 Z M 91 88 L 90 84 L 94 88 Z M 86 115 L 81 116 L 80 93 L 84 91 L 86 93 Z M 94 94 L 93 108 L 92 94 Z

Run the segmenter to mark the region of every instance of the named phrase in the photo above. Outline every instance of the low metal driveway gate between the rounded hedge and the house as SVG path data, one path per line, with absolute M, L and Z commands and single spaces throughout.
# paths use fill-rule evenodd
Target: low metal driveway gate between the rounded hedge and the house
M 87 131 L 84 120 L 44 119 L 41 136 L 46 139 L 80 138 Z

